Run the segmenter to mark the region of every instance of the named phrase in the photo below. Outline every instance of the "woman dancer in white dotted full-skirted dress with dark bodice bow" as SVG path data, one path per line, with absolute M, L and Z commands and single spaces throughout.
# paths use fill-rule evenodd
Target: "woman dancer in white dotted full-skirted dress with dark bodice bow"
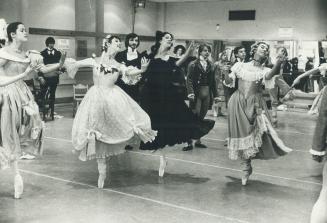
M 80 160 L 97 160 L 99 188 L 103 188 L 106 179 L 107 158 L 125 152 L 126 145 L 135 147 L 140 140 L 148 142 L 156 136 L 149 116 L 115 85 L 119 74 L 134 78 L 146 70 L 149 62 L 143 58 L 141 69 L 126 67 L 114 59 L 119 51 L 119 37 L 108 36 L 100 58 L 67 63 L 66 67 L 72 78 L 79 67 L 93 67 L 94 86 L 77 110 L 72 141 L 75 150 L 80 152 Z

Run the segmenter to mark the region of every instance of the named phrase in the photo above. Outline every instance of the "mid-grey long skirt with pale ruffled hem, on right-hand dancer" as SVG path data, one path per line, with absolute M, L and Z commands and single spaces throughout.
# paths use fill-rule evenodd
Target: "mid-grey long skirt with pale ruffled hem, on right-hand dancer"
M 260 93 L 245 98 L 236 91 L 228 103 L 229 158 L 273 159 L 292 151 L 278 137 Z

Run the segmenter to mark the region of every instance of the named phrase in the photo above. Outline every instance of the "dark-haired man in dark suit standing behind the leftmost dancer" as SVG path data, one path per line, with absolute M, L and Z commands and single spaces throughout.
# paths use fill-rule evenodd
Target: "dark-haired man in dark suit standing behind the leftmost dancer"
M 55 40 L 53 37 L 48 37 L 45 40 L 46 48 L 41 51 L 43 56 L 43 62 L 45 65 L 59 63 L 61 58 L 61 52 L 54 48 Z M 53 71 L 46 74 L 39 73 L 38 80 L 40 81 L 40 98 L 41 98 L 41 109 L 43 110 L 43 118 L 45 119 L 45 97 L 47 90 L 49 89 L 49 108 L 51 111 L 51 119 L 54 120 L 54 103 L 56 100 L 56 89 L 59 83 L 59 71 Z

